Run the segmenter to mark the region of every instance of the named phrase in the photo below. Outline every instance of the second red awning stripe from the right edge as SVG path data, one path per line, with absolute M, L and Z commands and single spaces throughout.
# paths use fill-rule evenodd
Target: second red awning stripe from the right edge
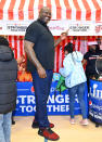
M 86 9 L 86 21 L 91 21 L 91 9 L 86 0 L 82 0 L 82 3 Z

